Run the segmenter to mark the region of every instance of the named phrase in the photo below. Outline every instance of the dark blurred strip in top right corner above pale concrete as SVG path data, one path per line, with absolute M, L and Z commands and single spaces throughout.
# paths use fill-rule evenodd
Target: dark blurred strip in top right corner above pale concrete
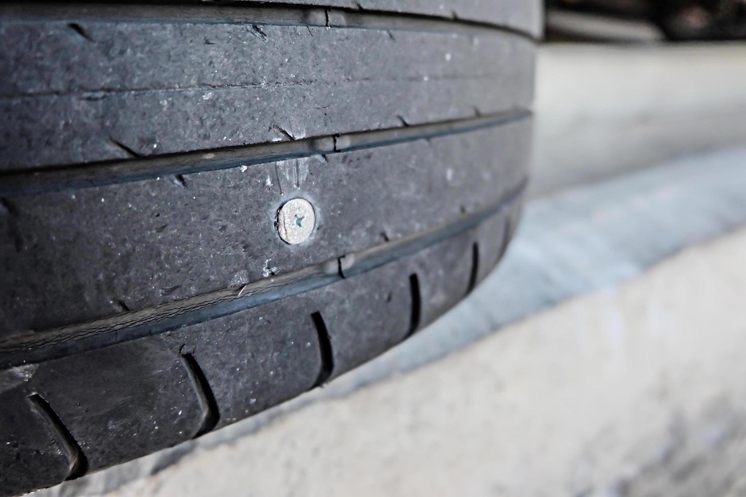
M 746 0 L 547 0 L 548 39 L 746 39 Z

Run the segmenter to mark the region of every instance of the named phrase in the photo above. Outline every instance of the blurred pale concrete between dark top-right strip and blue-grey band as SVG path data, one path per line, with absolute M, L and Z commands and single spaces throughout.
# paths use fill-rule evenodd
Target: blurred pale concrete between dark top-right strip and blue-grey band
M 746 45 L 551 44 L 536 73 L 534 196 L 746 143 Z

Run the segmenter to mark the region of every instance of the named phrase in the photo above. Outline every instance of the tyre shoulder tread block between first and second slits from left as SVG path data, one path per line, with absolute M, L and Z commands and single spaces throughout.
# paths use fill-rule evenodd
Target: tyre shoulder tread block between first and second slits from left
M 90 471 L 189 440 L 204 417 L 184 364 L 153 339 L 45 362 L 28 387 L 54 409 Z

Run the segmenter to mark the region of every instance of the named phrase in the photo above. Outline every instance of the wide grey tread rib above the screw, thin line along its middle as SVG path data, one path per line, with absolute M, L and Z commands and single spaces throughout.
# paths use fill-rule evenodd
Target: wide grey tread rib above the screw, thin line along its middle
M 199 8 L 187 19 L 154 8 L 166 17 L 158 22 L 128 22 L 126 6 L 110 20 L 76 20 L 65 7 L 3 22 L 2 168 L 466 118 L 526 108 L 533 94 L 533 42 L 513 33 L 454 33 L 448 22 L 410 31 L 360 15 L 371 28 L 247 26 L 221 7 Z M 281 14 L 301 23 L 313 12 Z

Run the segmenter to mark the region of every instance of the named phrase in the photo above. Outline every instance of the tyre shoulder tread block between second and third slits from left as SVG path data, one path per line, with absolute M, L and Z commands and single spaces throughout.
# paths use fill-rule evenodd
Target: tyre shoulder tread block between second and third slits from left
M 167 333 L 174 353 L 199 364 L 217 408 L 216 428 L 298 396 L 322 367 L 307 302 L 294 298 Z

